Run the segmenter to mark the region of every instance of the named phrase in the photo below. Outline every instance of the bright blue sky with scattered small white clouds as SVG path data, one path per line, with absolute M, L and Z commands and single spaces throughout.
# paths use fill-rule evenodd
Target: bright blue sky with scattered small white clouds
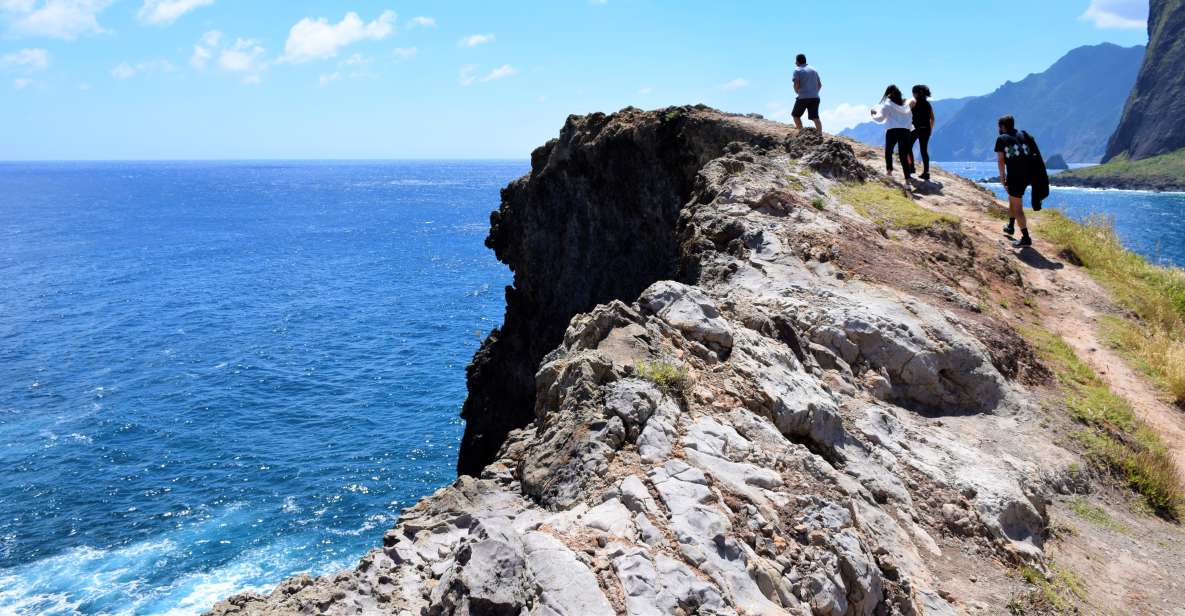
M 1147 0 L 0 0 L 0 160 L 525 159 L 570 114 L 704 103 L 825 130 L 885 85 L 987 94 L 1147 43 Z M 1102 76 L 1104 78 L 1104 76 Z

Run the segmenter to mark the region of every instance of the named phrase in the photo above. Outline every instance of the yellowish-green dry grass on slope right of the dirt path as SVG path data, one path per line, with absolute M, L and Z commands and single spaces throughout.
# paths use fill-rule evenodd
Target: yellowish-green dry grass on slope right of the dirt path
M 1185 404 L 1185 270 L 1162 268 L 1123 248 L 1104 218 L 1084 224 L 1056 211 L 1039 217 L 1042 235 L 1074 255 L 1139 321 L 1112 320 L 1106 338 Z

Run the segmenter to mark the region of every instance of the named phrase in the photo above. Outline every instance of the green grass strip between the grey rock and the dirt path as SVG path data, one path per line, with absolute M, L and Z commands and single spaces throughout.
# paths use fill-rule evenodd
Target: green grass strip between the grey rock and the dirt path
M 1074 439 L 1087 457 L 1122 479 L 1157 514 L 1171 520 L 1185 515 L 1185 487 L 1160 435 L 1061 336 L 1037 327 L 1026 327 L 1023 333 L 1063 385 L 1070 415 L 1084 425 Z

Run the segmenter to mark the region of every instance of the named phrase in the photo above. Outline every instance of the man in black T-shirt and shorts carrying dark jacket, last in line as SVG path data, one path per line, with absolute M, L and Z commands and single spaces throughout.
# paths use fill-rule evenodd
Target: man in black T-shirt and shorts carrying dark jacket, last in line
M 1029 224 L 1025 220 L 1025 190 L 1032 186 L 1033 211 L 1040 211 L 1042 201 L 1049 197 L 1049 172 L 1045 159 L 1040 155 L 1037 140 L 1024 130 L 1017 130 L 1017 121 L 1011 115 L 1000 117 L 997 122 L 999 136 L 995 139 L 997 163 L 1000 168 L 1000 184 L 1008 193 L 1008 224 L 1004 232 L 1012 236 L 1017 223 L 1020 223 L 1020 239 L 1012 245 L 1031 246 Z

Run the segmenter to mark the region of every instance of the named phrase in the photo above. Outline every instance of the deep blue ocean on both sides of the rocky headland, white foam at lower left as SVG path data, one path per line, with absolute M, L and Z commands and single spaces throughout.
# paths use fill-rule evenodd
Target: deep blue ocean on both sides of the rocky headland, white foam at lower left
M 526 171 L 0 163 L 0 614 L 197 614 L 379 545 L 454 477 Z M 1185 195 L 1050 205 L 1185 264 Z

